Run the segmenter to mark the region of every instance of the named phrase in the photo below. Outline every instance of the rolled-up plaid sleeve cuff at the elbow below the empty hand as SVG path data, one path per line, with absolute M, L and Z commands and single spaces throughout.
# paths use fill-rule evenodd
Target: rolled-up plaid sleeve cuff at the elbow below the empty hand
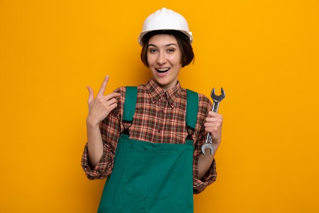
M 81 160 L 82 169 L 90 180 L 107 178 L 113 170 L 114 157 L 109 147 L 103 144 L 103 154 L 95 167 L 88 159 L 88 144 L 85 145 Z

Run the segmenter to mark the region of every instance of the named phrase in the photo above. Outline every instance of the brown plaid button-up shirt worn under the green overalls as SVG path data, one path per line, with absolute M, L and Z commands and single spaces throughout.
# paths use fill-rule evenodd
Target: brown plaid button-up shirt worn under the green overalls
M 114 154 L 122 125 L 125 87 L 115 90 L 121 94 L 118 98 L 118 107 L 115 108 L 101 123 L 100 131 L 103 140 L 103 155 L 93 168 L 88 160 L 88 147 L 85 146 L 82 156 L 82 168 L 90 180 L 103 179 L 112 173 Z M 207 132 L 204 131 L 204 122 L 208 111 L 212 109 L 211 102 L 203 94 L 199 94 L 197 124 L 193 133 L 195 151 L 193 155 L 193 191 L 202 192 L 207 185 L 216 180 L 215 159 L 202 180 L 198 177 L 198 158 L 201 146 L 205 143 Z M 187 93 L 178 84 L 164 92 L 153 79 L 138 86 L 138 97 L 134 122 L 129 127 L 130 138 L 149 141 L 151 143 L 184 144 L 188 136 L 185 121 Z M 126 124 L 124 124 L 125 127 Z

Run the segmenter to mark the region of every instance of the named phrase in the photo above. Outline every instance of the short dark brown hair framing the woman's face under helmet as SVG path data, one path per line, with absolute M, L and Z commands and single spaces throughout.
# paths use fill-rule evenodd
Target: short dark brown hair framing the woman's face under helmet
M 190 42 L 188 42 L 185 39 L 182 39 L 179 36 L 174 35 L 174 37 L 177 40 L 180 52 L 181 52 L 181 67 L 187 66 L 189 65 L 192 61 L 194 63 L 195 61 L 195 55 L 194 55 L 194 51 L 192 48 L 192 45 L 190 44 Z M 147 63 L 147 48 L 148 48 L 148 41 L 151 37 L 149 37 L 143 45 L 142 51 L 141 51 L 141 60 L 144 63 L 144 65 L 146 67 L 149 67 L 148 63 Z

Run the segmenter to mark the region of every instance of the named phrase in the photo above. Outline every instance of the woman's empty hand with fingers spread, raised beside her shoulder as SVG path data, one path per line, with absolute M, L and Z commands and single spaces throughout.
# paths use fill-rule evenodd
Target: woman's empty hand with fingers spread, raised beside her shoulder
M 89 114 L 87 117 L 87 125 L 98 126 L 101 121 L 109 115 L 109 113 L 117 107 L 116 97 L 121 96 L 120 93 L 112 92 L 104 96 L 105 89 L 107 88 L 109 75 L 107 75 L 94 99 L 94 91 L 91 87 L 87 86 L 89 90 Z

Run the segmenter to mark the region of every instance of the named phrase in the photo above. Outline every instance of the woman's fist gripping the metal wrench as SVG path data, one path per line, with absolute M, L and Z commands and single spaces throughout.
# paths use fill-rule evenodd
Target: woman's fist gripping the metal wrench
M 219 147 L 222 140 L 223 116 L 213 111 L 209 111 L 204 127 L 205 131 L 211 134 L 211 143 L 215 148 Z

